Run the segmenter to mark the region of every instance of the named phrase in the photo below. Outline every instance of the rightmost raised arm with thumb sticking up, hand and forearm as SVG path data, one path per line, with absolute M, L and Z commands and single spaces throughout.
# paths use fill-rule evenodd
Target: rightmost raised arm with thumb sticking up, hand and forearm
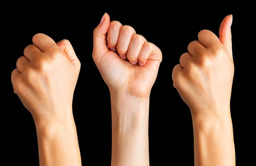
M 173 85 L 192 114 L 195 166 L 236 165 L 230 115 L 232 20 L 232 15 L 224 18 L 219 37 L 200 31 L 173 69 Z

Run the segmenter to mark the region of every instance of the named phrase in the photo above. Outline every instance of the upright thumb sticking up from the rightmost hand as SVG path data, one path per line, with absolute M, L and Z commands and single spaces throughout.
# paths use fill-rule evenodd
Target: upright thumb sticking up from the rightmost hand
M 219 29 L 219 39 L 224 47 L 230 54 L 231 59 L 233 60 L 232 54 L 232 39 L 231 39 L 231 25 L 233 21 L 233 15 L 226 16 L 221 22 L 221 26 Z

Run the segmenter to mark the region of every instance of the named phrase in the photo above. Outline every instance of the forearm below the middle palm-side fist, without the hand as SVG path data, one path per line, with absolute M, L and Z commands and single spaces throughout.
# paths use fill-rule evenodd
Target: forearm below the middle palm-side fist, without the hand
M 111 166 L 149 166 L 149 97 L 111 94 Z

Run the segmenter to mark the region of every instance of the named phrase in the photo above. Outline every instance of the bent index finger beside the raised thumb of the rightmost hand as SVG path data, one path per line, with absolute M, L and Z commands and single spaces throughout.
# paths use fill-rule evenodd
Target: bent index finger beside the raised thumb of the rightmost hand
M 218 37 L 209 30 L 202 30 L 198 33 L 199 42 L 204 45 L 205 48 L 209 48 L 212 45 L 221 43 Z

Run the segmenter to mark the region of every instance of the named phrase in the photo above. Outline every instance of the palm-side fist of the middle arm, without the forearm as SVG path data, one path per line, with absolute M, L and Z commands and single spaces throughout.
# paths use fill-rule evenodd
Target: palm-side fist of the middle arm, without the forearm
M 93 60 L 111 92 L 148 97 L 162 53 L 131 26 L 110 23 L 109 15 L 104 14 L 93 32 Z

